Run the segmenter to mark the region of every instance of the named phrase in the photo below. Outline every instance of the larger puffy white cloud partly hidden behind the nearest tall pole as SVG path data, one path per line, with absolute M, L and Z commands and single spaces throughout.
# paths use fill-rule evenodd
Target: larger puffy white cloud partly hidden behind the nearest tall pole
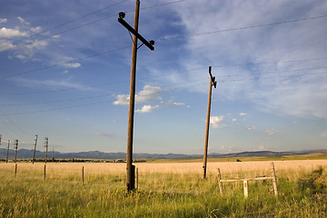
M 163 91 L 158 86 L 152 86 L 150 84 L 144 85 L 144 88 L 138 93 L 135 94 L 135 104 L 141 103 L 152 103 L 157 100 L 161 100 L 161 95 Z M 114 101 L 115 105 L 128 105 L 129 104 L 129 94 L 118 94 L 116 100 Z

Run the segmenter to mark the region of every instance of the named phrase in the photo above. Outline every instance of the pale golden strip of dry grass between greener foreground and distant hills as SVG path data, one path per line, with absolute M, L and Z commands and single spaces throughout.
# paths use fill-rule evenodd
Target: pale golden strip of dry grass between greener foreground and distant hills
M 287 171 L 310 173 L 319 166 L 327 167 L 327 160 L 293 160 L 274 161 L 276 173 Z M 45 163 L 17 163 L 18 173 L 33 171 L 43 173 Z M 207 173 L 216 174 L 217 168 L 222 174 L 233 173 L 267 173 L 270 172 L 271 161 L 261 162 L 218 162 L 208 163 Z M 139 173 L 173 173 L 173 174 L 201 174 L 203 163 L 134 163 Z M 84 172 L 92 175 L 125 173 L 126 163 L 47 163 L 48 173 L 79 173 L 84 166 Z M 15 163 L 0 163 L 0 170 L 12 168 Z M 285 174 L 283 174 L 285 176 Z

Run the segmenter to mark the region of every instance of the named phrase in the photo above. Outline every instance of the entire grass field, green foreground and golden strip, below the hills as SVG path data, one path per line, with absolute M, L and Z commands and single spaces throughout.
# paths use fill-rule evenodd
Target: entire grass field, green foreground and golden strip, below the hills
M 295 158 L 296 159 L 296 158 Z M 309 159 L 309 158 L 306 158 Z M 252 159 L 253 160 L 253 159 Z M 254 159 L 255 160 L 255 159 Z M 270 176 L 271 161 L 135 163 L 138 192 L 125 193 L 125 163 L 0 163 L 0 217 L 327 217 L 327 160 L 274 161 L 271 181 L 223 183 Z M 84 185 L 82 185 L 84 167 Z

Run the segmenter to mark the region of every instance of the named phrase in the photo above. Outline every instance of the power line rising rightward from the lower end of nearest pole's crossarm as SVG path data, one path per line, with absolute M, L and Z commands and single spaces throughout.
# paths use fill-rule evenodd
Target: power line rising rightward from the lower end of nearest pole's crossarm
M 198 35 L 212 35 L 212 34 L 219 34 L 219 33 L 223 33 L 223 32 L 232 32 L 232 31 L 237 31 L 237 30 L 252 29 L 252 28 L 258 28 L 258 27 L 266 27 L 266 26 L 271 26 L 271 25 L 285 25 L 285 24 L 290 24 L 290 23 L 295 23 L 295 22 L 302 22 L 302 21 L 307 21 L 307 20 L 320 19 L 320 18 L 325 18 L 325 17 L 327 17 L 327 15 L 312 16 L 312 17 L 306 17 L 306 18 L 302 18 L 302 19 L 294 19 L 294 20 L 289 20 L 289 21 L 274 22 L 274 23 L 268 23 L 268 24 L 263 24 L 263 25 L 248 25 L 248 26 L 243 26 L 243 27 L 223 29 L 223 30 L 215 30 L 215 31 L 203 32 L 203 33 L 191 34 L 191 35 L 167 36 L 167 37 L 163 37 L 163 38 L 158 38 L 155 41 L 165 41 L 165 40 L 171 40 L 171 39 L 175 39 L 175 38 L 193 37 L 193 36 L 198 36 Z

